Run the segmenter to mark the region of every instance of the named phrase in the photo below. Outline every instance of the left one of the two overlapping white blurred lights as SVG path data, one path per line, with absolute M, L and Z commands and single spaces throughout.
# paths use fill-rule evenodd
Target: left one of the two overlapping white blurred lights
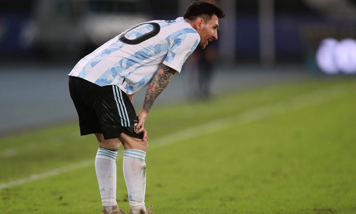
M 339 41 L 333 38 L 327 38 L 320 42 L 318 51 L 316 52 L 316 63 L 321 71 L 328 74 L 336 74 L 339 69 L 334 62 L 334 49 Z

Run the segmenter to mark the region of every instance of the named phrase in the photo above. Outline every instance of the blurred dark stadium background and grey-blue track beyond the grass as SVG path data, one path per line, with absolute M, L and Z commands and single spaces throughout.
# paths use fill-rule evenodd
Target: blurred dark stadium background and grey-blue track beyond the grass
M 182 16 L 190 2 L 2 0 L 0 133 L 75 118 L 66 83 L 66 74 L 75 63 L 137 23 Z M 356 72 L 354 0 L 212 2 L 227 13 L 220 20 L 218 41 L 194 52 L 183 75 L 175 77 L 157 103 L 192 101 L 235 88 L 310 78 L 321 70 Z M 324 42 L 318 64 L 319 45 L 329 37 L 334 40 Z M 341 68 L 336 68 L 335 46 L 345 38 L 351 39 L 339 45 Z M 135 99 L 137 108 L 143 94 Z

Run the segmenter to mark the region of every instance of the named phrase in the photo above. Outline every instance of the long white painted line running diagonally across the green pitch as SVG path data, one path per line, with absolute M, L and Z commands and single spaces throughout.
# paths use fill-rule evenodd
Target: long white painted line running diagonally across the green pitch
M 283 114 L 290 111 L 297 111 L 299 109 L 306 108 L 308 106 L 316 105 L 322 102 L 339 98 L 344 95 L 344 92 L 345 90 L 343 90 L 340 86 L 334 86 L 326 90 L 314 91 L 312 93 L 298 96 L 289 100 L 267 104 L 231 117 L 218 119 L 216 121 L 205 123 L 200 126 L 191 127 L 180 132 L 169 134 L 168 136 L 159 138 L 153 142 L 151 141 L 150 149 L 166 146 L 179 141 L 184 141 L 190 138 L 198 137 L 204 134 L 221 131 L 222 129 L 228 128 L 230 124 L 233 124 L 233 126 L 242 125 L 242 124 L 255 122 L 272 115 Z M 120 155 L 118 154 L 117 157 L 122 157 L 122 154 Z M 47 178 L 50 176 L 58 175 L 63 172 L 68 172 L 70 170 L 88 167 L 91 165 L 94 165 L 94 159 L 73 163 L 65 167 L 60 167 L 40 174 L 31 175 L 30 177 L 22 178 L 12 182 L 2 183 L 0 184 L 0 189 L 31 182 L 33 180 Z

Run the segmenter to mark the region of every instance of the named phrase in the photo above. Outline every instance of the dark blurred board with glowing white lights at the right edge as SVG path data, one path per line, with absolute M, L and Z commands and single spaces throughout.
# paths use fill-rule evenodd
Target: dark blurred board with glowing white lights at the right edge
M 356 73 L 356 22 L 331 20 L 304 25 L 310 71 L 327 74 Z

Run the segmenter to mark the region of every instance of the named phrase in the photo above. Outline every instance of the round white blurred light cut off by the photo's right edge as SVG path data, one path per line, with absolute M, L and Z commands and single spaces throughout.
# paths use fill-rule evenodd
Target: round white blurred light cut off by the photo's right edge
M 335 65 L 343 73 L 356 73 L 356 40 L 343 39 L 334 50 Z

